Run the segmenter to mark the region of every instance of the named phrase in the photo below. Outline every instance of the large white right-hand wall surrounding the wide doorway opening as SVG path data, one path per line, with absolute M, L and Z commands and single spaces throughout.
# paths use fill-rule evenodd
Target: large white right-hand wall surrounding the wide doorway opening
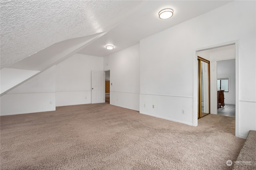
M 195 51 L 238 41 L 240 86 L 237 135 L 246 137 L 250 129 L 256 130 L 255 5 L 255 1 L 234 1 L 142 39 L 140 112 L 197 125 Z M 151 104 L 155 104 L 156 108 L 153 109 Z M 186 110 L 185 114 L 182 114 L 182 109 Z

